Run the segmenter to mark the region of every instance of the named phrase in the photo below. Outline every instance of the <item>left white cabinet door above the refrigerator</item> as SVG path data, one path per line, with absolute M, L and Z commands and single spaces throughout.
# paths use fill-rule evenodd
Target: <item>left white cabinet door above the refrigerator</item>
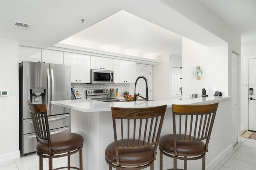
M 41 49 L 19 47 L 19 63 L 22 61 L 41 62 Z

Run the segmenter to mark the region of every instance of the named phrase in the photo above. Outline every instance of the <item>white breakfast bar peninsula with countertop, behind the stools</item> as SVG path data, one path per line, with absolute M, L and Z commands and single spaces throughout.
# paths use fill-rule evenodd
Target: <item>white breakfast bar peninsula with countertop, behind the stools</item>
M 167 105 L 161 136 L 173 132 L 172 104 L 178 105 L 204 105 L 219 103 L 212 134 L 209 142 L 209 151 L 206 153 L 206 169 L 216 167 L 230 152 L 232 152 L 232 123 L 231 123 L 231 97 L 202 97 L 196 99 L 173 99 L 162 101 L 136 101 L 106 103 L 94 100 L 66 100 L 52 101 L 71 109 L 71 132 L 84 137 L 83 169 L 107 170 L 105 162 L 105 148 L 114 141 L 111 107 L 155 107 Z M 157 151 L 159 152 L 159 150 Z M 188 161 L 188 170 L 201 169 L 202 160 Z M 78 164 L 78 156 L 73 156 L 72 166 Z M 163 168 L 173 166 L 171 158 L 164 157 Z M 177 162 L 178 168 L 183 168 L 183 162 Z M 154 169 L 159 169 L 159 154 L 154 162 Z

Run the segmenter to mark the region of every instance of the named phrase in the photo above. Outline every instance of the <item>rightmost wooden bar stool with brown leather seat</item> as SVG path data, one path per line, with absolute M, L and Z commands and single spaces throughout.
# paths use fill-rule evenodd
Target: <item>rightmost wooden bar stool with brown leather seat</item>
M 160 170 L 163 169 L 163 154 L 174 159 L 173 170 L 177 170 L 177 159 L 184 160 L 186 170 L 187 160 L 201 158 L 205 170 L 205 153 L 208 152 L 218 104 L 172 105 L 173 134 L 164 135 L 159 140 Z M 205 143 L 202 140 L 206 140 Z

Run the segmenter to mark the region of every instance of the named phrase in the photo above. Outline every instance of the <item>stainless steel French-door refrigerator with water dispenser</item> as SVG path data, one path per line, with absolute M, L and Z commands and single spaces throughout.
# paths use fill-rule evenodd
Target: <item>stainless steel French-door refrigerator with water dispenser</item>
M 23 61 L 19 64 L 20 152 L 36 151 L 27 101 L 45 103 L 51 133 L 70 132 L 70 109 L 50 104 L 70 100 L 70 65 Z

